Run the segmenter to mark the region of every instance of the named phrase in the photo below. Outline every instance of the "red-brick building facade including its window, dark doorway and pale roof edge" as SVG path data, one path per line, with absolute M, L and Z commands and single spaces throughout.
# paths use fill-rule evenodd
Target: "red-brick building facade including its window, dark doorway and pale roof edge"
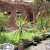
M 6 13 L 8 17 L 8 27 L 15 27 L 16 20 L 21 16 L 23 19 L 27 17 L 27 21 L 36 22 L 37 15 L 39 16 L 44 11 L 44 16 L 48 16 L 47 8 L 32 5 L 32 0 L 1 0 L 0 11 Z M 50 6 L 49 6 L 50 7 Z M 39 12 L 40 11 L 40 12 Z

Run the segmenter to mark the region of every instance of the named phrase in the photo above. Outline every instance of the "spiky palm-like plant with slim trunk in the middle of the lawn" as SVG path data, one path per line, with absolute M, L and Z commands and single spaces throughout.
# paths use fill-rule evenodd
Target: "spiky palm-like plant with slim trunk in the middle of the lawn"
M 21 40 L 21 35 L 23 32 L 28 31 L 28 28 L 31 26 L 31 24 L 25 20 L 23 20 L 21 17 L 16 19 L 16 23 L 18 26 L 18 33 L 19 33 L 19 40 Z

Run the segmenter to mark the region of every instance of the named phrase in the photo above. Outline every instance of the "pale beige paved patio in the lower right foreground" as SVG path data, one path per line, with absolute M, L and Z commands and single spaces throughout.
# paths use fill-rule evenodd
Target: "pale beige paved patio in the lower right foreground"
M 48 38 L 47 40 L 42 41 L 40 44 L 38 44 L 37 46 L 30 46 L 24 50 L 46 50 L 46 43 L 48 43 L 50 41 L 50 38 Z

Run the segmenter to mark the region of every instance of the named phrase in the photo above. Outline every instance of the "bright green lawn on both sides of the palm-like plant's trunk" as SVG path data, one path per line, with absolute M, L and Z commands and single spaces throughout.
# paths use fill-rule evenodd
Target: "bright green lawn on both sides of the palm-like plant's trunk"
M 32 34 L 31 33 L 23 33 L 21 36 L 22 39 L 29 39 L 31 40 Z M 2 32 L 0 35 L 0 44 L 2 43 L 12 43 L 16 44 L 19 40 L 19 33 L 14 32 Z

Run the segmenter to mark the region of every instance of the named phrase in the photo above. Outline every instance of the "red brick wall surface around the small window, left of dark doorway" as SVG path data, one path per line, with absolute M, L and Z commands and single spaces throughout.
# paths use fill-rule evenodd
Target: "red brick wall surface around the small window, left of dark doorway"
M 25 8 L 23 4 L 19 5 L 11 5 L 7 2 L 0 3 L 0 10 L 7 11 L 8 13 L 11 12 L 11 14 L 7 14 L 8 16 L 8 27 L 15 27 L 16 26 L 16 10 L 20 10 L 22 12 L 23 19 L 28 16 L 28 10 Z M 10 17 L 10 18 L 9 18 Z

